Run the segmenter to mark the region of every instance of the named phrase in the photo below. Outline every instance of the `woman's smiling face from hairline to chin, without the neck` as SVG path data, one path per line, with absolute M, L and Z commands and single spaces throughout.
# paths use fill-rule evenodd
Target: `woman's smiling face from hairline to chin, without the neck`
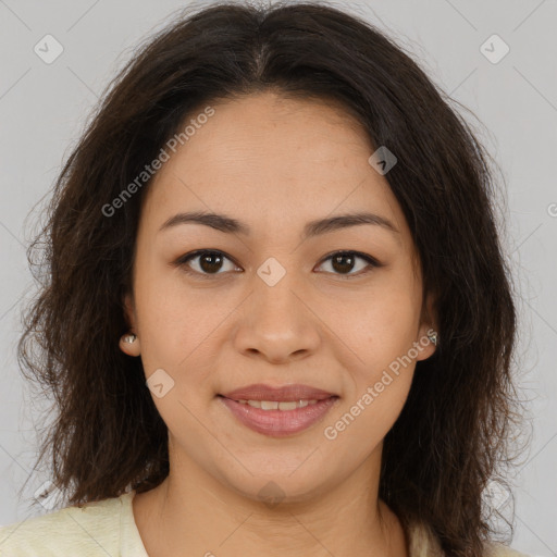
M 270 92 L 212 108 L 146 193 L 125 299 L 138 339 L 122 349 L 152 383 L 171 474 L 301 500 L 379 470 L 434 350 L 430 305 L 374 148 L 342 108 Z M 228 220 L 171 221 L 190 212 Z M 330 221 L 361 213 L 374 216 Z

